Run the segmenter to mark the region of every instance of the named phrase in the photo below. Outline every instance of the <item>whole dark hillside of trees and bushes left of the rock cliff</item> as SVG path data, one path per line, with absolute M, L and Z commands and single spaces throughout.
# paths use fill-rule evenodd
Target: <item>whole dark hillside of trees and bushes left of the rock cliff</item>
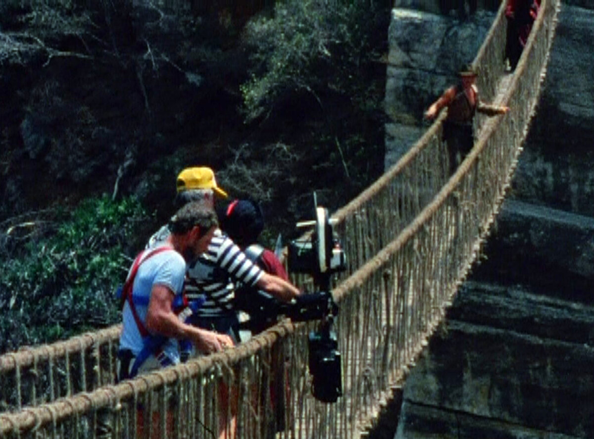
M 198 164 L 213 166 L 233 195 L 265 201 L 269 228 L 279 222 L 283 236 L 293 215 L 310 215 L 312 190 L 341 206 L 383 169 L 386 67 L 374 60 L 390 14 L 365 1 L 327 3 L 277 2 L 238 48 L 220 23 L 151 2 L 0 1 L 0 63 L 15 89 L 0 133 L 12 195 L 1 217 L 110 191 L 122 171 L 119 192 L 140 194 L 163 219 L 174 176 Z M 274 123 L 238 123 L 241 98 L 247 121 Z M 146 226 L 137 208 L 102 198 L 53 213 L 43 226 L 52 233 L 0 234 L 0 350 L 118 320 L 112 291 L 128 269 L 124 254 L 143 244 L 130 242 Z

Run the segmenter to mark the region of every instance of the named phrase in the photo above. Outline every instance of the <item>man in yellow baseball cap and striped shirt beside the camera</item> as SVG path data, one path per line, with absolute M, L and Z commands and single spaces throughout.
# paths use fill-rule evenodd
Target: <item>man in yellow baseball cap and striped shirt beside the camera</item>
M 216 184 L 213 170 L 206 167 L 186 168 L 176 179 L 177 195 L 175 203 L 194 201 L 210 208 L 214 205 L 214 194 L 227 197 L 227 193 Z M 147 248 L 154 248 L 170 235 L 168 226 L 163 226 L 151 236 Z M 241 283 L 266 291 L 283 302 L 290 302 L 301 291 L 292 283 L 267 273 L 241 251 L 241 249 L 216 229 L 211 235 L 207 250 L 194 261 L 187 264 L 184 283 L 184 296 L 189 302 L 203 298 L 204 302 L 188 323 L 203 330 L 215 331 L 228 335 L 233 343 L 241 341 L 239 334 L 238 312 L 234 306 L 235 285 Z M 191 343 L 182 342 L 180 359 L 185 361 L 194 351 Z M 235 419 L 237 413 L 237 389 L 225 386 L 219 394 L 219 437 L 235 437 Z M 230 421 L 228 421 L 230 418 Z

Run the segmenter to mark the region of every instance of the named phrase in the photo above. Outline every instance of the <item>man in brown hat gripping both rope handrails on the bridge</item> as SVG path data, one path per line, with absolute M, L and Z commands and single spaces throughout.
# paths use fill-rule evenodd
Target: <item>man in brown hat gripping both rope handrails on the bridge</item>
M 451 86 L 429 106 L 425 112 L 426 119 L 435 119 L 442 109 L 447 108 L 447 117 L 443 124 L 443 140 L 447 144 L 450 158 L 450 175 L 474 144 L 472 120 L 475 113 L 481 112 L 488 116 L 507 113 L 507 106 L 491 105 L 479 99 L 476 87 L 476 71 L 472 65 L 467 65 L 459 72 L 460 81 Z

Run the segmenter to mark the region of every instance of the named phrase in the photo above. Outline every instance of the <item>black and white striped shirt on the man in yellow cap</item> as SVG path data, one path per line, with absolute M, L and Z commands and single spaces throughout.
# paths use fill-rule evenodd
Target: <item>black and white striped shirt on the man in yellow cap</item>
M 217 230 L 207 251 L 188 266 L 185 293 L 189 300 L 206 296 L 198 317 L 225 315 L 233 312 L 234 283 L 255 286 L 262 275 L 263 271 Z

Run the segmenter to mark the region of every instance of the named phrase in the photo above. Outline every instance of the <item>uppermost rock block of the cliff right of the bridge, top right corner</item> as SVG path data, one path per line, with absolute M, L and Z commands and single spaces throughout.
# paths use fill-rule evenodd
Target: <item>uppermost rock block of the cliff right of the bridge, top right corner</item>
M 513 195 L 594 216 L 594 5 L 563 4 Z

